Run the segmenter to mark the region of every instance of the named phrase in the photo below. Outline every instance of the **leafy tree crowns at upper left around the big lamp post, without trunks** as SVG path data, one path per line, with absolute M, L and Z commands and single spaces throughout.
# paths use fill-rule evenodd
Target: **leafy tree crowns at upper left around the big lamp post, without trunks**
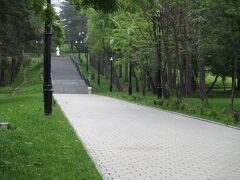
M 36 40 L 42 42 L 47 16 L 53 25 L 54 43 L 61 44 L 64 33 L 53 8 L 44 10 L 45 0 L 1 0 L 0 54 L 18 56 L 22 51 L 36 52 Z

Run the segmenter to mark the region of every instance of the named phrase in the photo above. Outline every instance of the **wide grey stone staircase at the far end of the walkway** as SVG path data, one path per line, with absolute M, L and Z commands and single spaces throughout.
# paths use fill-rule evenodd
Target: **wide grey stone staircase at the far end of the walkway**
M 88 94 L 88 86 L 70 58 L 52 58 L 52 83 L 55 94 Z

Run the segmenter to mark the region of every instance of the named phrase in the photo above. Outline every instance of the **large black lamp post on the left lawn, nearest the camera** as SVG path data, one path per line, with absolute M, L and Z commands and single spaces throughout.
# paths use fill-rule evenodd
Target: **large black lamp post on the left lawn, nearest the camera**
M 45 47 L 44 47 L 44 112 L 46 115 L 52 114 L 52 79 L 51 79 L 51 20 L 49 7 L 51 0 L 47 0 L 47 20 L 45 22 Z

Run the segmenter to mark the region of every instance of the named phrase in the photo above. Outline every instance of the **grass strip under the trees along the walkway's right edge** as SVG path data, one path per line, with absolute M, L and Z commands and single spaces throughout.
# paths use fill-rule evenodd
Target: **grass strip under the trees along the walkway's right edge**
M 83 56 L 82 56 L 83 58 Z M 85 64 L 81 67 L 82 71 L 86 73 Z M 127 92 L 118 92 L 116 87 L 113 87 L 113 92 L 109 92 L 109 80 L 104 76 L 101 76 L 101 86 L 97 85 L 97 72 L 94 68 L 90 67 L 89 74 L 95 74 L 95 79 L 92 80 L 93 92 L 96 94 L 101 94 L 105 96 L 111 96 L 118 99 L 123 99 L 126 101 L 134 102 L 137 104 L 152 106 L 156 108 L 161 108 L 165 110 L 171 110 L 180 112 L 187 115 L 192 115 L 196 117 L 201 117 L 209 119 L 212 121 L 238 126 L 240 123 L 233 122 L 233 117 L 230 112 L 230 92 L 226 91 L 213 91 L 209 94 L 209 106 L 202 108 L 201 100 L 198 94 L 194 94 L 192 98 L 185 98 L 183 104 L 179 107 L 175 106 L 175 98 L 168 101 L 159 101 L 156 95 L 152 93 L 147 93 L 144 98 L 141 93 L 134 92 L 132 96 L 128 96 Z M 207 81 L 213 80 L 214 77 L 208 77 Z M 133 79 L 134 81 L 134 79 Z M 208 83 L 211 84 L 211 83 Z M 230 80 L 227 79 L 226 85 L 229 86 Z M 133 87 L 134 87 L 133 82 Z M 217 85 L 221 85 L 221 79 L 218 80 Z M 235 99 L 235 109 L 240 111 L 240 98 Z

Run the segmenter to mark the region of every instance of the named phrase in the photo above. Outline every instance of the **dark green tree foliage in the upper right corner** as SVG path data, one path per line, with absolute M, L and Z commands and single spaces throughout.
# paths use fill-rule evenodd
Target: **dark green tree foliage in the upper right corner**
M 198 1 L 193 7 L 193 22 L 196 29 L 198 50 L 207 59 L 214 74 L 223 77 L 232 75 L 232 58 L 240 44 L 239 1 Z M 239 53 L 238 53 L 239 54 Z M 226 68 L 228 67 L 228 68 Z

